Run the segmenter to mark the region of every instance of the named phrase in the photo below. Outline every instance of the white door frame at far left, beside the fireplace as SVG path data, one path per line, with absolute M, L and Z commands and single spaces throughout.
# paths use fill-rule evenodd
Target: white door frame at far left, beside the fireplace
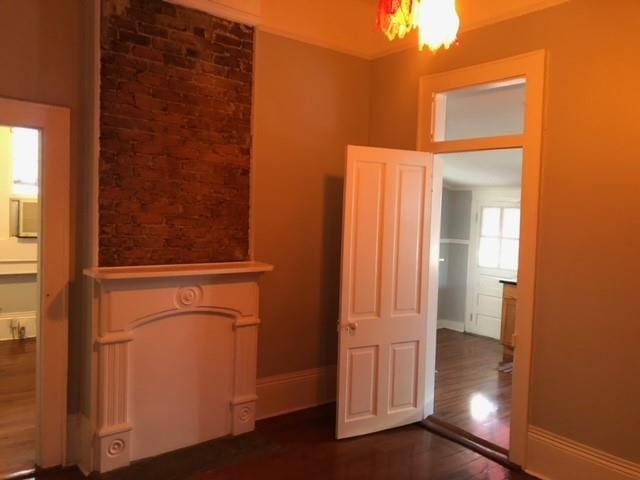
M 40 238 L 36 322 L 36 465 L 65 462 L 69 331 L 70 110 L 0 98 L 0 124 L 36 128 Z

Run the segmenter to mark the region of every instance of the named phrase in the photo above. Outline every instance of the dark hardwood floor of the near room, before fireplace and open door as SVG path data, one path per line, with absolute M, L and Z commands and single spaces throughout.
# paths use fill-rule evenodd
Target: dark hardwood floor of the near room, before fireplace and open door
M 335 440 L 335 405 L 258 422 L 256 431 L 102 475 L 104 480 L 525 480 L 419 425 Z M 38 478 L 80 480 L 77 471 Z

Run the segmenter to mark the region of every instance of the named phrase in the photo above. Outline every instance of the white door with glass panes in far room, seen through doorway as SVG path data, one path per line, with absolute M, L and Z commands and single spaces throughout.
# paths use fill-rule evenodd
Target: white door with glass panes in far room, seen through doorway
M 500 338 L 500 280 L 518 277 L 520 190 L 474 193 L 465 330 Z

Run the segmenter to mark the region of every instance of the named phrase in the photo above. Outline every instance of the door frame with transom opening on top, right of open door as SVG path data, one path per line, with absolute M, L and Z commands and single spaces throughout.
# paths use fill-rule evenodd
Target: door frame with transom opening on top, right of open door
M 517 330 L 514 335 L 516 344 L 514 355 L 514 373 L 512 385 L 512 413 L 509 458 L 518 465 L 524 465 L 527 456 L 527 431 L 529 424 L 529 393 L 531 382 L 532 332 L 535 314 L 535 279 L 538 244 L 538 216 L 540 202 L 542 124 L 544 112 L 546 52 L 534 52 L 505 58 L 489 63 L 474 65 L 457 70 L 426 75 L 420 78 L 417 149 L 436 154 L 434 157 L 433 196 L 441 196 L 442 159 L 439 153 L 469 152 L 477 150 L 496 150 L 522 148 L 522 204 L 520 224 L 520 258 L 518 271 L 518 306 L 516 311 Z M 446 98 L 438 93 L 472 87 L 494 82 L 526 79 L 526 108 L 524 132 L 520 135 L 504 135 L 464 140 L 439 140 L 443 137 L 438 129 L 444 122 L 443 102 Z M 436 119 L 435 115 L 440 115 Z M 437 177 L 438 175 L 439 177 Z M 434 198 L 432 205 L 437 205 Z M 439 221 L 439 215 L 432 216 L 432 222 Z M 439 253 L 439 227 L 432 225 L 431 258 Z M 433 236 L 437 235 L 437 236 Z M 523 255 L 522 252 L 527 252 Z M 430 279 L 438 278 L 438 263 L 430 262 Z M 432 285 L 436 283 L 436 285 Z M 430 282 L 429 303 L 437 304 L 437 282 Z M 427 332 L 433 339 L 427 339 L 427 345 L 435 345 L 435 325 L 437 313 L 430 309 L 427 315 Z M 435 379 L 435 348 L 431 349 L 433 358 L 427 361 L 427 386 Z M 425 412 L 429 413 L 429 412 Z

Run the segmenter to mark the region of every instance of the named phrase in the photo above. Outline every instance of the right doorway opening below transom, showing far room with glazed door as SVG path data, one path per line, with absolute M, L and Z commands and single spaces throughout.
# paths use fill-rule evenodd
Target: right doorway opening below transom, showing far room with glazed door
M 441 155 L 442 213 L 434 417 L 509 448 L 522 150 Z

